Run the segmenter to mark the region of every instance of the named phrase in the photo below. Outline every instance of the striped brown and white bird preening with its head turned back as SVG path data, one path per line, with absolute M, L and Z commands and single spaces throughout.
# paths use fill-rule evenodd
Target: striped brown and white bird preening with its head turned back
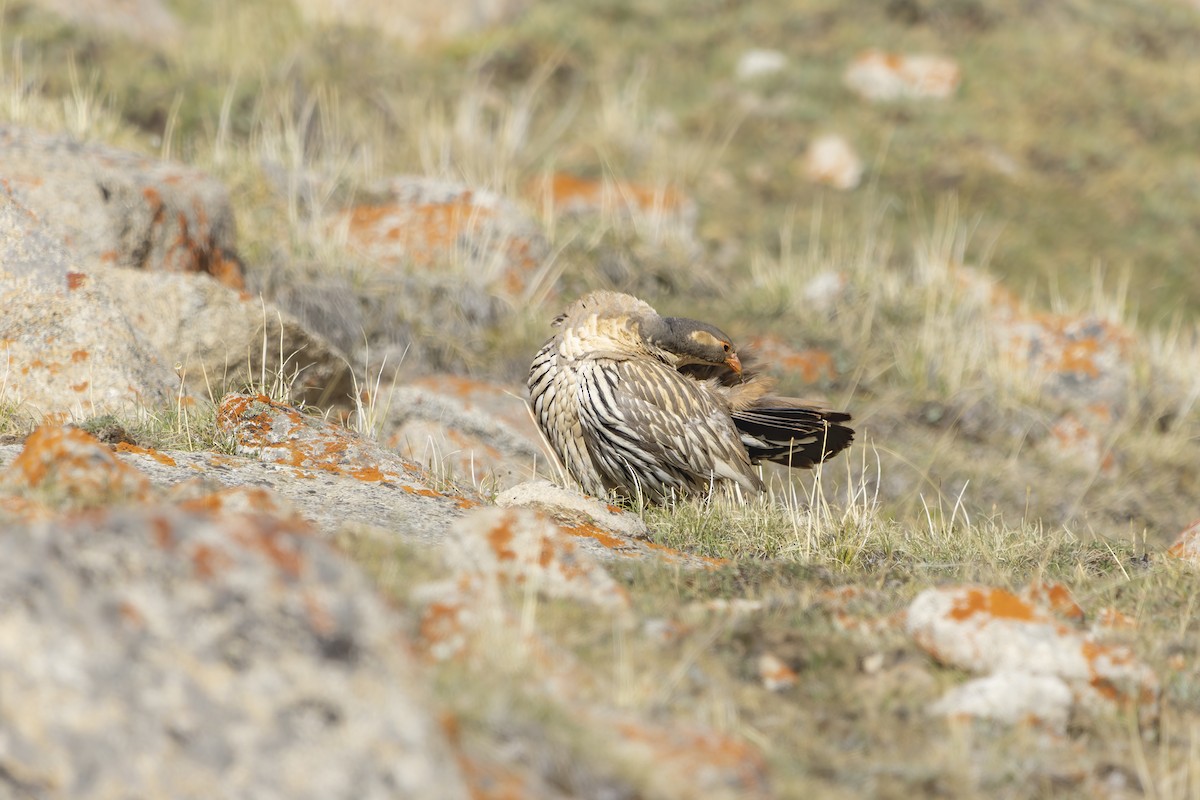
M 588 494 L 756 494 L 760 462 L 810 468 L 854 438 L 850 414 L 773 395 L 774 381 L 708 323 L 598 290 L 552 326 L 529 367 L 529 407 Z

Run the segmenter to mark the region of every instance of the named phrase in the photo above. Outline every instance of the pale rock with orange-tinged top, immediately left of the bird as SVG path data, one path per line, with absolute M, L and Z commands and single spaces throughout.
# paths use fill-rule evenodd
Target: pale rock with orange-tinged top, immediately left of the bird
M 377 399 L 390 416 L 385 441 L 462 482 L 505 489 L 548 465 L 524 386 L 428 375 Z

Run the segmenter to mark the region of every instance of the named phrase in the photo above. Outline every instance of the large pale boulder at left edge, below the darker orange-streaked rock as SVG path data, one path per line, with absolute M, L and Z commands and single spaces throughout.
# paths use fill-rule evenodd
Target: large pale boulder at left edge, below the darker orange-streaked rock
M 181 378 L 206 393 L 283 375 L 308 402 L 349 397 L 346 357 L 289 314 L 206 276 L 88 261 L 25 200 L 0 192 L 0 374 L 20 413 L 130 413 Z

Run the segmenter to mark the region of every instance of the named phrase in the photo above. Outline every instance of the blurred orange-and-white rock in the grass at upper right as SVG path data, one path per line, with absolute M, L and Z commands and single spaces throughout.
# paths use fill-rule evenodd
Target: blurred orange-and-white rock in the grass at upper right
M 846 86 L 870 101 L 944 100 L 959 89 L 959 65 L 940 55 L 868 50 L 846 68 Z

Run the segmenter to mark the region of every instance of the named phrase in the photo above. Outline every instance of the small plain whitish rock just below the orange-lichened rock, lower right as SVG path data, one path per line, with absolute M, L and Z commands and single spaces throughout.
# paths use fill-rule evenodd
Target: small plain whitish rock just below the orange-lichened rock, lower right
M 992 720 L 1004 724 L 1032 722 L 1062 733 L 1067 729 L 1072 704 L 1070 688 L 1057 675 L 1008 669 L 952 688 L 929 710 L 938 716 Z

